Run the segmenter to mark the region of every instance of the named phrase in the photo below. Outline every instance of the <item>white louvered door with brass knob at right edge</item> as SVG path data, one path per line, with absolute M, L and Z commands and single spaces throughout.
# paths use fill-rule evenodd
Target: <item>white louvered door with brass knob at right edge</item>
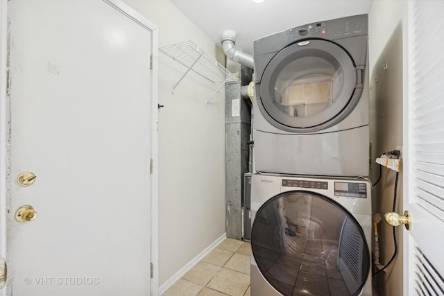
M 443 1 L 408 1 L 404 21 L 404 295 L 444 295 Z

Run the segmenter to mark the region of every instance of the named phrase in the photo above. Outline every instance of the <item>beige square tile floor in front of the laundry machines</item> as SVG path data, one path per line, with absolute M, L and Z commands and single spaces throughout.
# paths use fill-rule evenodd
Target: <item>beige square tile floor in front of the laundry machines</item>
M 225 238 L 162 296 L 250 296 L 250 250 Z

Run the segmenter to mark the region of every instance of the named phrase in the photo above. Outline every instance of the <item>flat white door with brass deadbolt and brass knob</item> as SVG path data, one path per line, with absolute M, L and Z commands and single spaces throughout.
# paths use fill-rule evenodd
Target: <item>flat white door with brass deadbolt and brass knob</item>
M 8 295 L 150 295 L 156 43 L 110 2 L 8 2 Z

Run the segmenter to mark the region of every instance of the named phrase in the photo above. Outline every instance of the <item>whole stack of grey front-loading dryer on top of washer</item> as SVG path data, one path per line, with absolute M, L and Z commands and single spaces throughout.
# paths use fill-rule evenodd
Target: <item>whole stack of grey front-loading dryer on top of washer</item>
M 251 295 L 372 295 L 368 15 L 254 44 Z

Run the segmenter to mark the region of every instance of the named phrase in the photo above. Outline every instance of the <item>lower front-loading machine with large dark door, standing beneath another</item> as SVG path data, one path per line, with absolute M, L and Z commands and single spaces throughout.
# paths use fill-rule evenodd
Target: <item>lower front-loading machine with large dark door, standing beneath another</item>
M 373 295 L 363 178 L 252 176 L 251 295 Z

